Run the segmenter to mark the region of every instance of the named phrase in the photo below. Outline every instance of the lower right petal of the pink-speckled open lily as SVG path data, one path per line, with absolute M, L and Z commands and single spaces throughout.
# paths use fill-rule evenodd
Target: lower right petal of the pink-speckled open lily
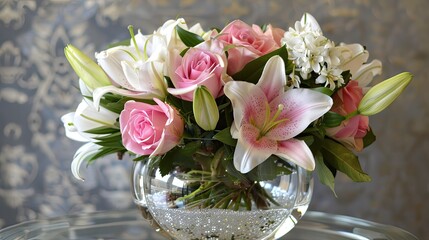
M 292 138 L 287 141 L 279 141 L 275 155 L 287 159 L 309 171 L 313 171 L 315 168 L 313 154 L 302 140 Z

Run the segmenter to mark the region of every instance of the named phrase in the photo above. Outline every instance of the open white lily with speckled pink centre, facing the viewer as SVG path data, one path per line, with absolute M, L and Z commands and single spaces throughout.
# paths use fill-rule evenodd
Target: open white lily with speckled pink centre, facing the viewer
M 291 89 L 286 84 L 283 59 L 272 57 L 259 82 L 230 81 L 225 95 L 231 100 L 233 138 L 238 139 L 234 166 L 247 173 L 272 154 L 314 170 L 314 157 L 304 141 L 295 139 L 310 123 L 325 114 L 332 99 L 310 89 Z

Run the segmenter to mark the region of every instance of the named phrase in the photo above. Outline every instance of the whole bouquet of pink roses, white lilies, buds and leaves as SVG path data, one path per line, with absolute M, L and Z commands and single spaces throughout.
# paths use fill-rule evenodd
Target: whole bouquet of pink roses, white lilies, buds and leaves
M 337 171 L 370 181 L 356 156 L 375 141 L 368 116 L 390 105 L 412 79 L 400 73 L 370 87 L 381 62 L 368 62 L 360 44 L 326 38 L 310 14 L 287 31 L 240 20 L 205 31 L 184 19 L 149 35 L 129 31 L 130 40 L 96 53 L 96 62 L 65 48 L 83 96 L 76 111 L 62 117 L 66 135 L 86 142 L 72 162 L 78 179 L 82 163 L 129 153 L 136 161 L 156 159 L 161 174 L 179 166 L 189 176 L 257 182 L 270 176 L 255 171 L 287 174 L 296 164 L 316 170 L 332 190 Z M 189 195 L 195 206 L 271 204 L 263 193 L 238 200 L 225 194 L 202 204 L 196 195 L 205 187 L 228 189 L 201 184 Z

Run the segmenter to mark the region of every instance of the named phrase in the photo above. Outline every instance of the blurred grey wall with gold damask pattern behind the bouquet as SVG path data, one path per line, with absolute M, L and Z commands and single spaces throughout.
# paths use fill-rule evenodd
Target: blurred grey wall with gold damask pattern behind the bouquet
M 394 225 L 429 239 L 427 9 L 427 0 L 0 0 L 0 228 L 135 207 L 131 161 L 97 161 L 87 168 L 85 182 L 71 175 L 80 144 L 65 137 L 60 117 L 74 111 L 81 97 L 64 57 L 66 44 L 93 56 L 128 38 L 130 24 L 151 33 L 176 17 L 205 29 L 240 18 L 288 29 L 309 12 L 325 36 L 361 43 L 370 60 L 383 62 L 377 81 L 402 71 L 414 74 L 403 95 L 370 120 L 378 141 L 360 159 L 372 182 L 356 184 L 338 175 L 338 198 L 317 183 L 310 210 Z

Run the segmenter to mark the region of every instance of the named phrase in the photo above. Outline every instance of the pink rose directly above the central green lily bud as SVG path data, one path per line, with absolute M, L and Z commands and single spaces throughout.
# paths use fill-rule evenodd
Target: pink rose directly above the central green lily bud
M 217 40 L 210 40 L 190 48 L 183 57 L 178 51 L 170 54 L 169 77 L 174 88 L 168 92 L 192 101 L 198 86 L 206 86 L 214 98 L 223 94 L 228 81 L 226 55 Z

